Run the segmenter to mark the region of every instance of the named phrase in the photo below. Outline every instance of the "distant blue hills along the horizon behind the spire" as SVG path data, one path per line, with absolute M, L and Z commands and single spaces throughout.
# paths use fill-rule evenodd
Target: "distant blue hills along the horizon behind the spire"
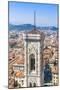
M 34 29 L 34 25 L 32 25 L 32 24 L 22 24 L 22 25 L 9 24 L 8 28 L 9 28 L 9 30 L 18 30 L 18 31 L 21 31 L 21 30 L 32 30 L 32 29 Z M 36 29 L 53 30 L 53 31 L 58 30 L 58 28 L 54 27 L 54 26 L 48 26 L 48 27 L 41 27 L 41 26 L 37 27 L 36 26 Z

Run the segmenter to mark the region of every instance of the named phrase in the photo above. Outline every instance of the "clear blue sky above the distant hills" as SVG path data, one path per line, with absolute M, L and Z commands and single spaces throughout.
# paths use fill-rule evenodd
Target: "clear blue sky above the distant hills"
M 34 24 L 36 11 L 37 26 L 57 26 L 57 7 L 57 4 L 9 2 L 9 23 Z

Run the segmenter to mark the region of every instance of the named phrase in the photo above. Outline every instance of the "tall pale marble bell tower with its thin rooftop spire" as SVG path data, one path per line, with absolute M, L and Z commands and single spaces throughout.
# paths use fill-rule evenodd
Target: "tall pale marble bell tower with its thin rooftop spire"
M 36 30 L 36 12 L 34 12 L 34 29 L 24 34 L 26 87 L 42 85 L 41 35 L 42 33 Z

